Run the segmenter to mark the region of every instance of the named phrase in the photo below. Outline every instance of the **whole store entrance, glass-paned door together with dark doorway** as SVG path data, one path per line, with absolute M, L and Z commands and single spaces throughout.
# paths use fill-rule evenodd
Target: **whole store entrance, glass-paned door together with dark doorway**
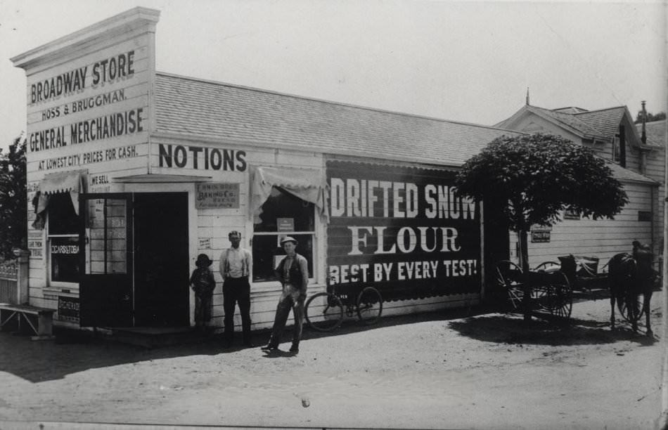
M 82 195 L 81 325 L 189 324 L 188 195 Z

